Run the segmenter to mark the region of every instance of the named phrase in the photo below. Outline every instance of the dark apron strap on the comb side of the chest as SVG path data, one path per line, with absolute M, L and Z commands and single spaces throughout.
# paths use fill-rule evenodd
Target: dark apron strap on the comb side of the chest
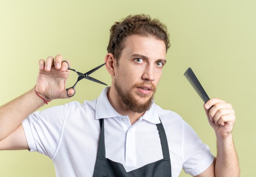
M 160 120 L 160 118 L 159 118 L 159 120 Z M 159 137 L 160 137 L 160 141 L 161 141 L 163 157 L 164 157 L 164 159 L 168 159 L 168 158 L 170 158 L 168 141 L 167 141 L 167 137 L 166 137 L 166 134 L 164 131 L 164 126 L 162 124 L 162 121 L 160 120 L 160 122 L 161 123 L 157 124 L 157 129 L 158 129 Z

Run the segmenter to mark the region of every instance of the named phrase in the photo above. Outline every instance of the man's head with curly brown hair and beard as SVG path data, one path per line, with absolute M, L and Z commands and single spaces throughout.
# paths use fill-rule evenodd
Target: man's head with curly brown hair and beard
M 128 16 L 110 29 L 106 68 L 112 76 L 110 103 L 143 113 L 153 103 L 170 46 L 166 26 L 150 16 Z

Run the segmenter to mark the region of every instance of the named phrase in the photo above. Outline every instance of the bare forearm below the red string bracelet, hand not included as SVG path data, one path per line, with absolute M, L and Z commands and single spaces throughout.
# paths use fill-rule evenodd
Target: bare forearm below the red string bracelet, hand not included
M 38 97 L 34 89 L 0 107 L 0 140 L 6 138 L 22 123 L 31 112 L 42 105 L 43 99 Z

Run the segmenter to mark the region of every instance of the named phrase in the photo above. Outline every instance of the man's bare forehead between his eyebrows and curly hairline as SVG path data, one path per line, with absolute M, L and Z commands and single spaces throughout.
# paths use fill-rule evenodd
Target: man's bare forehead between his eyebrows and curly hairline
M 154 59 L 165 58 L 166 46 L 163 40 L 154 36 L 131 35 L 124 41 L 121 57 L 133 54 L 141 54 Z

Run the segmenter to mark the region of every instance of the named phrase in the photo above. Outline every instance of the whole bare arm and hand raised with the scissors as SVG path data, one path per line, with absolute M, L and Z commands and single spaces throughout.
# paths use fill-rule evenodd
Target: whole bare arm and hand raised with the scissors
M 36 91 L 48 101 L 68 98 L 65 83 L 69 76 L 69 71 L 67 71 L 67 63 L 61 63 L 62 60 L 63 57 L 61 55 L 55 57 L 55 62 L 52 56 L 49 56 L 46 61 L 39 60 Z M 73 91 L 70 90 L 70 92 Z M 0 107 L 0 150 L 24 149 L 24 144 L 27 142 L 23 142 L 22 146 L 19 146 L 20 143 L 14 141 L 18 138 L 26 140 L 21 123 L 30 113 L 40 108 L 44 103 L 43 99 L 36 95 L 33 88 L 24 95 Z

